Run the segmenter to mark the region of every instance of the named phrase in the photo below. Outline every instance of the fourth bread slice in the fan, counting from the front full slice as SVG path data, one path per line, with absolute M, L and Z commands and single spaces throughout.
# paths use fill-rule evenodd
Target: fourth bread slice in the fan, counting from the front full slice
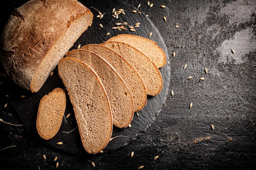
M 149 58 L 134 47 L 123 42 L 107 41 L 101 45 L 106 46 L 130 63 L 140 75 L 148 95 L 157 95 L 163 87 L 162 75 L 157 66 Z

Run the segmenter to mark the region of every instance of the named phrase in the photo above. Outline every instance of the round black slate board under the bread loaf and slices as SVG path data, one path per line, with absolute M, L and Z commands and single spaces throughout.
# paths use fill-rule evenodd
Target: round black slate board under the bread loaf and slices
M 83 35 L 76 41 L 74 46 L 70 49 L 77 49 L 79 44 L 81 46 L 86 44 L 100 44 L 112 36 L 118 34 L 133 34 L 139 35 L 141 37 L 149 38 L 159 44 L 159 46 L 164 50 L 167 57 L 166 65 L 160 68 L 160 72 L 163 78 L 163 89 L 159 95 L 156 96 L 148 96 L 148 101 L 146 106 L 134 114 L 134 118 L 131 123 L 131 128 L 117 128 L 114 126 L 112 137 L 116 136 L 124 136 L 117 137 L 112 139 L 109 144 L 104 148 L 103 152 L 109 152 L 121 148 L 123 146 L 128 145 L 132 140 L 137 139 L 147 128 L 153 123 L 156 119 L 157 115 L 160 113 L 167 94 L 168 87 L 170 82 L 170 60 L 167 53 L 167 48 L 162 39 L 160 33 L 154 24 L 146 17 L 144 13 L 132 13 L 134 7 L 129 6 L 128 4 L 123 4 L 118 1 L 112 0 L 81 0 L 82 4 L 88 7 L 92 13 L 94 14 L 94 19 L 92 26 L 88 28 Z M 95 9 L 94 9 L 95 8 Z M 119 14 L 119 18 L 116 19 L 112 17 L 112 9 L 124 9 L 125 15 Z M 103 18 L 97 18 L 99 15 L 98 11 L 101 13 L 105 13 Z M 116 26 L 117 22 L 128 22 L 128 24 L 135 26 L 135 23 L 140 22 L 140 26 L 136 28 L 135 31 L 130 31 L 128 26 L 125 26 L 127 30 L 121 29 L 112 29 L 112 27 Z M 99 24 L 103 25 L 103 28 L 99 26 Z M 106 35 L 106 33 L 110 33 L 110 35 Z M 148 37 L 149 33 L 153 32 L 151 37 Z M 16 110 L 17 114 L 20 116 L 22 121 L 25 124 L 25 128 L 34 135 L 39 141 L 51 146 L 52 148 L 56 148 L 58 150 L 62 150 L 69 153 L 76 154 L 86 154 L 80 140 L 79 131 L 76 124 L 76 119 L 74 117 L 74 111 L 72 104 L 70 103 L 69 97 L 67 95 L 67 106 L 65 110 L 65 117 L 70 113 L 70 117 L 63 118 L 61 128 L 58 131 L 57 135 L 50 139 L 44 140 L 40 138 L 38 132 L 36 130 L 36 116 L 38 105 L 40 99 L 49 92 L 51 92 L 54 88 L 60 87 L 65 88 L 63 82 L 58 76 L 57 68 L 54 69 L 54 74 L 52 77 L 49 77 L 43 87 L 37 93 L 30 93 L 25 89 L 21 88 L 17 84 L 13 83 L 11 80 L 9 81 L 9 91 L 10 91 L 10 99 L 11 104 Z M 25 95 L 26 97 L 21 97 Z M 70 132 L 71 131 L 71 132 Z M 57 142 L 63 142 L 62 145 L 57 145 Z

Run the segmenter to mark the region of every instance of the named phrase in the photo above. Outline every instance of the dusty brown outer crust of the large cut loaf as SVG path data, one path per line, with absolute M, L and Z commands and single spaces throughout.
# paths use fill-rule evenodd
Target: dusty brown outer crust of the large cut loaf
M 76 0 L 30 0 L 16 9 L 1 38 L 1 60 L 7 74 L 31 90 L 31 79 L 47 51 L 74 20 L 88 13 Z

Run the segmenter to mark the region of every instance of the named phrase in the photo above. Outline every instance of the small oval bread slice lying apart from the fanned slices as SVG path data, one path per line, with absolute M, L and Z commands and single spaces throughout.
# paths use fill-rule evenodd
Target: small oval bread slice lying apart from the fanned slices
M 39 104 L 36 128 L 43 139 L 52 139 L 61 127 L 66 108 L 66 93 L 62 88 L 55 88 L 45 95 Z

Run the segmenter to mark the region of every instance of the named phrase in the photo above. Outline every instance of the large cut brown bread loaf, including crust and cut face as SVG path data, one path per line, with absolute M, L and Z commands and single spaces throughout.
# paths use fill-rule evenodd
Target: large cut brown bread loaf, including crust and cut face
M 77 0 L 28 1 L 14 11 L 2 32 L 5 71 L 20 86 L 37 92 L 92 19 Z

